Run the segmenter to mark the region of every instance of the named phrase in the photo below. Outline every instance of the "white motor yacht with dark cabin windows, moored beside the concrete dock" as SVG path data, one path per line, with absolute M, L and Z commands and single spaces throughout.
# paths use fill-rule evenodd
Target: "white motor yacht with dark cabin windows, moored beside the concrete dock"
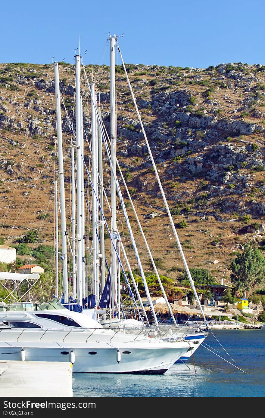
M 57 301 L 0 305 L 0 360 L 72 362 L 79 373 L 162 374 L 190 350 L 185 339 L 104 329 Z

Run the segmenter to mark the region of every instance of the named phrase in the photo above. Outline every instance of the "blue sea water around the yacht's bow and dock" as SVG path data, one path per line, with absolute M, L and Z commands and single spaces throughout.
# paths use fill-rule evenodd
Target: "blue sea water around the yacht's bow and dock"
M 212 330 L 203 344 L 164 375 L 74 373 L 73 397 L 265 396 L 265 331 Z

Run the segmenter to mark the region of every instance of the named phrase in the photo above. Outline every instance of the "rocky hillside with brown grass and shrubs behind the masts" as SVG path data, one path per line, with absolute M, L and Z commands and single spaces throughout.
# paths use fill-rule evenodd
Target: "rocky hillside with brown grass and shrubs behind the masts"
M 265 251 L 265 66 L 234 63 L 190 69 L 128 64 L 126 68 L 188 264 L 209 268 L 217 280 L 229 283 L 232 257 L 246 242 L 255 240 Z M 85 66 L 85 72 L 87 79 L 82 75 L 81 83 L 88 165 L 87 80 L 95 82 L 108 131 L 110 74 L 108 66 Z M 67 155 L 72 140 L 69 121 L 74 125 L 75 66 L 60 63 L 59 75 L 69 202 Z M 0 237 L 9 245 L 37 228 L 39 242 L 51 244 L 57 169 L 52 64 L 0 64 L 0 136 Z M 117 156 L 160 272 L 176 278 L 182 260 L 120 66 Z M 136 221 L 132 223 L 148 270 L 139 229 Z

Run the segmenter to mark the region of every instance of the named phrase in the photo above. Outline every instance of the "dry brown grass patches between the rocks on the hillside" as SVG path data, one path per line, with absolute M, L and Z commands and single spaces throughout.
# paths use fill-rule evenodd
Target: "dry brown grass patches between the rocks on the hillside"
M 5 67 L 6 64 L 1 64 L 0 67 Z M 30 66 L 30 65 L 29 65 Z M 19 68 L 16 67 L 14 71 L 18 71 Z M 137 71 L 137 70 L 136 70 Z M 27 74 L 27 69 L 23 69 L 23 72 Z M 43 77 L 45 79 L 53 80 L 53 66 L 39 66 L 37 69 L 39 74 L 39 78 Z M 48 74 L 48 76 L 47 76 Z M 90 71 L 87 70 L 87 74 L 91 74 Z M 100 67 L 96 67 L 93 71 L 95 82 L 101 82 L 103 84 L 108 83 L 109 79 L 109 72 L 108 69 L 103 69 Z M 193 77 L 193 72 L 190 71 L 190 77 Z M 198 74 L 198 73 L 196 73 Z M 217 71 L 213 71 L 212 75 L 207 75 L 204 70 L 201 70 L 201 74 L 203 75 L 204 79 L 209 79 L 213 76 L 220 77 L 221 75 Z M 121 78 L 124 77 L 124 74 L 119 74 Z M 162 80 L 163 76 L 155 76 L 156 79 Z M 174 76 L 174 75 L 173 75 Z M 136 76 L 140 79 L 151 80 L 154 77 L 149 75 L 144 76 Z M 259 73 L 258 77 L 265 82 L 265 74 Z M 60 68 L 60 78 L 68 78 L 68 82 L 74 85 L 74 66 L 67 66 Z M 132 77 L 134 78 L 134 77 Z M 201 109 L 205 108 L 208 112 L 211 111 L 212 107 L 209 104 L 205 103 L 205 97 L 203 97 L 203 93 L 207 90 L 208 87 L 200 86 L 198 84 L 189 84 L 189 81 L 192 78 L 187 77 L 181 81 L 180 86 L 174 87 L 173 85 L 170 87 L 171 90 L 173 89 L 183 89 L 185 87 L 188 88 L 190 94 L 192 94 L 196 99 L 196 105 L 194 109 Z M 232 80 L 233 82 L 233 80 Z M 121 83 L 123 87 L 125 87 L 126 83 Z M 26 102 L 28 99 L 27 94 L 34 89 L 32 85 L 25 85 L 19 86 L 21 88 L 20 92 L 11 92 L 5 87 L 1 87 L 3 91 L 3 95 L 8 98 L 17 97 L 15 100 L 22 104 L 22 107 L 16 109 L 8 102 L 6 106 L 10 110 L 7 113 L 8 116 L 15 118 L 16 122 L 19 120 L 24 120 L 26 117 L 40 117 L 38 112 L 33 109 L 26 110 L 23 108 L 23 102 Z M 156 87 L 156 86 L 155 86 Z M 218 89 L 216 88 L 216 92 L 212 94 L 211 99 L 216 100 L 219 102 L 219 108 L 223 110 L 221 114 L 222 117 L 231 117 L 235 120 L 238 118 L 238 114 L 234 114 L 234 110 L 240 109 L 242 107 L 242 101 L 249 93 L 244 93 L 243 89 L 238 89 L 238 94 L 235 94 L 233 89 Z M 50 107 L 54 110 L 54 97 L 53 95 L 47 95 L 45 92 L 35 89 L 36 97 L 41 100 L 41 106 L 43 107 Z M 150 87 L 143 86 L 143 93 L 144 97 L 149 99 L 150 97 Z M 242 97 L 239 96 L 242 94 Z M 228 99 L 225 99 L 228 97 Z M 129 99 L 129 96 L 121 97 L 118 96 L 118 104 L 117 110 L 118 114 L 122 113 L 123 116 L 133 119 L 136 119 L 135 110 L 127 109 L 121 112 L 120 107 L 124 107 L 121 103 L 122 100 Z M 262 99 L 263 100 L 263 99 Z M 261 103 L 260 103 L 261 104 Z M 256 109 L 260 110 L 264 113 L 264 107 L 260 106 L 260 104 L 255 105 Z M 108 103 L 101 103 L 102 111 L 109 111 Z M 17 113 L 17 111 L 19 113 Z M 85 109 L 87 116 L 90 115 L 90 110 Z M 155 118 L 156 115 L 149 114 L 148 112 L 142 112 L 143 118 L 146 122 L 151 123 Z M 209 113 L 210 115 L 210 113 Z M 46 116 L 44 116 L 46 117 Z M 253 117 L 247 117 L 247 121 L 250 122 L 260 122 L 259 120 Z M 2 136 L 1 140 L 1 161 L 14 161 L 17 166 L 13 166 L 14 174 L 13 176 L 9 176 L 5 170 L 1 171 L 1 178 L 5 180 L 5 182 L 1 185 L 1 191 L 5 191 L 9 189 L 7 193 L 0 194 L 0 211 L 1 211 L 1 219 L 3 226 L 0 228 L 0 237 L 4 237 L 6 239 L 6 243 L 10 244 L 14 242 L 15 236 L 23 235 L 28 229 L 34 228 L 41 228 L 40 236 L 42 242 L 53 243 L 54 242 L 54 199 L 53 199 L 53 189 L 54 189 L 54 157 L 51 155 L 51 150 L 47 150 L 46 147 L 54 143 L 54 138 L 51 138 L 47 135 L 45 138 L 41 139 L 34 139 L 31 137 L 24 137 L 21 134 L 20 130 L 17 130 L 15 133 L 11 133 L 9 131 L 0 131 Z M 53 133 L 54 134 L 54 133 Z M 64 136 L 64 153 L 66 154 L 69 152 L 69 136 Z M 26 148 L 19 148 L 11 146 L 8 141 L 15 140 L 19 143 L 25 143 Z M 223 139 L 223 138 L 222 138 Z M 141 141 L 144 138 L 141 138 Z M 220 138 L 219 138 L 220 140 Z M 231 144 L 235 145 L 244 145 L 245 143 L 257 143 L 261 148 L 264 142 L 264 135 L 260 133 L 255 133 L 253 135 L 249 135 L 248 137 L 243 138 L 244 143 L 240 141 L 239 138 L 232 138 Z M 67 142 L 68 141 L 68 142 Z M 34 143 L 38 144 L 39 153 L 36 152 L 36 147 Z M 119 145 L 118 145 L 119 148 Z M 41 162 L 41 156 L 46 155 L 45 163 Z M 135 160 L 135 158 L 134 158 Z M 131 157 L 123 158 L 123 161 L 127 163 L 129 166 L 133 164 L 135 166 L 134 170 L 131 170 L 133 180 L 131 182 L 131 186 L 134 186 L 138 189 L 138 178 L 142 177 L 147 181 L 149 189 L 147 192 L 141 191 L 140 193 L 137 192 L 134 196 L 134 203 L 136 205 L 137 213 L 139 214 L 139 218 L 144 229 L 144 232 L 147 235 L 147 239 L 152 250 L 152 254 L 155 258 L 162 260 L 162 267 L 159 269 L 161 274 L 167 274 L 172 278 L 178 277 L 178 271 L 175 269 L 183 269 L 183 261 L 180 257 L 180 253 L 178 247 L 176 247 L 175 238 L 173 232 L 171 230 L 170 222 L 165 214 L 161 210 L 163 207 L 163 202 L 160 196 L 157 195 L 158 186 L 155 180 L 154 173 L 150 169 L 142 168 L 141 163 L 145 161 L 145 156 L 139 157 L 139 161 L 132 161 Z M 23 163 L 23 164 L 22 164 Z M 22 164 L 22 165 L 21 165 Z M 165 182 L 163 182 L 163 186 L 165 187 L 165 191 L 168 194 L 168 201 L 170 207 L 173 208 L 176 205 L 176 201 L 173 200 L 173 197 L 176 193 L 183 193 L 187 192 L 188 195 L 194 197 L 199 196 L 203 193 L 203 190 L 200 189 L 200 183 L 203 178 L 188 178 L 185 181 L 182 181 L 181 178 L 169 178 L 167 176 L 167 172 L 172 168 L 173 162 L 168 160 L 165 162 L 165 166 L 159 166 L 160 171 L 160 178 L 165 176 Z M 32 171 L 29 167 L 34 168 Z M 70 168 L 69 164 L 65 165 L 65 177 L 69 178 L 70 176 Z M 43 171 L 43 172 L 41 172 Z M 241 170 L 242 174 L 248 173 L 246 169 Z M 251 173 L 250 181 L 255 186 L 257 183 L 264 181 L 264 173 L 265 172 L 253 172 Z M 185 173 L 186 174 L 186 173 Z M 34 180 L 35 179 L 35 180 Z M 258 187 L 258 186 L 257 186 Z M 23 196 L 25 192 L 28 192 L 27 196 Z M 260 201 L 264 201 L 264 196 L 262 194 L 258 194 L 257 199 Z M 7 199 L 3 199 L 3 197 L 7 196 Z M 67 223 L 69 223 L 69 183 L 66 184 L 66 196 L 68 197 L 67 200 Z M 185 196 L 185 195 L 184 195 Z M 244 197 L 244 196 L 243 196 Z M 238 199 L 239 196 L 229 195 L 229 199 Z M 201 267 L 201 268 L 209 268 L 210 272 L 217 280 L 220 280 L 221 277 L 227 276 L 229 277 L 229 265 L 233 256 L 233 251 L 238 250 L 240 245 L 244 245 L 248 240 L 253 238 L 253 234 L 242 234 L 240 233 L 240 229 L 245 226 L 242 222 L 233 221 L 233 222 L 226 222 L 230 221 L 233 218 L 232 214 L 224 214 L 221 210 L 218 212 L 220 214 L 222 220 L 224 222 L 218 221 L 212 215 L 213 211 L 220 209 L 220 205 L 218 206 L 218 201 L 221 199 L 226 199 L 226 196 L 220 196 L 217 199 L 211 199 L 207 202 L 206 205 L 198 206 L 198 204 L 187 203 L 189 201 L 189 197 L 183 197 L 178 201 L 178 204 L 188 204 L 190 206 L 190 212 L 184 212 L 182 215 L 173 216 L 175 224 L 178 224 L 180 220 L 185 219 L 188 223 L 188 227 L 185 229 L 177 229 L 178 236 L 180 242 L 183 246 L 183 251 L 185 257 L 187 259 L 188 265 L 190 268 L 194 267 Z M 244 197 L 245 201 L 249 201 L 251 199 L 250 196 L 246 193 Z M 253 199 L 253 197 L 252 197 Z M 217 203 L 214 201 L 216 200 Z M 181 209 L 183 209 L 181 207 Z M 42 222 L 38 219 L 38 211 L 42 211 L 42 213 L 49 212 L 50 216 L 45 221 Z M 156 211 L 159 213 L 159 217 L 154 219 L 147 219 L 143 218 L 143 214 L 149 214 L 152 211 Z M 201 215 L 197 213 L 205 214 L 206 219 L 201 220 Z M 107 213 L 107 212 L 106 212 Z M 134 219 L 133 212 L 128 209 L 129 217 Z M 4 215 L 6 215 L 4 217 Z M 109 216 L 107 216 L 109 219 Z M 257 222 L 264 223 L 265 218 L 260 217 L 259 219 L 255 219 Z M 139 253 L 141 254 L 144 269 L 146 271 L 150 271 L 151 268 L 149 267 L 150 261 L 149 257 L 147 256 L 147 251 L 144 247 L 144 242 L 141 238 L 139 233 L 139 229 L 135 220 L 132 221 L 133 224 L 133 231 L 135 234 L 136 242 L 139 244 Z M 124 229 L 126 229 L 126 225 L 123 224 Z M 168 228 L 169 227 L 169 228 Z M 213 243 L 214 242 L 214 243 Z M 129 244 L 129 236 L 125 235 L 124 243 Z M 109 247 L 107 246 L 109 251 Z M 129 257 L 133 260 L 132 264 L 137 267 L 135 257 L 133 254 L 133 250 L 131 248 L 128 249 Z M 219 260 L 218 263 L 214 264 L 214 260 Z

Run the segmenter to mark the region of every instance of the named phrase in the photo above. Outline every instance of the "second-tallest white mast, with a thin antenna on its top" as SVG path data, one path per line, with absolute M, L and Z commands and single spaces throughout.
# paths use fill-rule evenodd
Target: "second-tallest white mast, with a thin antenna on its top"
M 80 55 L 75 55 L 75 126 L 77 172 L 77 303 L 82 306 L 82 198 L 81 198 L 81 102 L 80 102 Z

